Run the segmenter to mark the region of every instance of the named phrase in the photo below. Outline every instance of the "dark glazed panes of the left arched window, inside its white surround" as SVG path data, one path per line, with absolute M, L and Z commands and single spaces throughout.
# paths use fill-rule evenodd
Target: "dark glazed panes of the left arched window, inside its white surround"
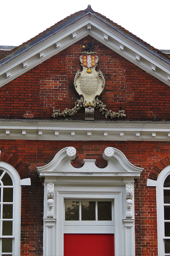
M 0 170 L 0 255 L 13 255 L 13 190 L 10 175 Z

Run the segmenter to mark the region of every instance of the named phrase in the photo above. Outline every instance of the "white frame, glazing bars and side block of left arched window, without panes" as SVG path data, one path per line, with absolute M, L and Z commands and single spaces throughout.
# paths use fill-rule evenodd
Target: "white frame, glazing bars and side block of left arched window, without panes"
M 10 178 L 12 179 L 12 186 L 13 188 L 13 218 L 12 218 L 12 235 L 9 238 L 12 238 L 12 253 L 8 255 L 12 256 L 20 256 L 20 233 L 21 233 L 21 185 L 30 185 L 30 178 L 27 179 L 20 179 L 20 175 L 18 174 L 17 170 L 11 166 L 10 164 L 0 161 L 0 170 L 2 170 L 2 174 L 0 175 L 0 184 L 1 187 L 3 186 L 3 182 L 1 181 L 2 176 L 7 173 Z M 2 204 L 2 200 L 1 203 Z M 8 202 L 6 203 L 8 204 Z M 10 203 L 9 203 L 10 204 Z M 2 208 L 1 208 L 2 211 Z M 1 220 L 2 222 L 2 213 L 1 213 Z M 2 224 L 2 223 L 1 223 Z M 1 225 L 2 226 L 2 225 Z M 3 236 L 2 232 L 0 234 L 0 255 L 6 255 L 6 253 L 2 253 L 2 239 L 8 238 L 8 236 Z

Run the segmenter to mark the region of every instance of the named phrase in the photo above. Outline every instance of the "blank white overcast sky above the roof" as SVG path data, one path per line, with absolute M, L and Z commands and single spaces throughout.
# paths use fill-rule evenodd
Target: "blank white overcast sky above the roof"
M 18 46 L 88 4 L 151 46 L 170 50 L 170 0 L 2 0 L 0 45 Z

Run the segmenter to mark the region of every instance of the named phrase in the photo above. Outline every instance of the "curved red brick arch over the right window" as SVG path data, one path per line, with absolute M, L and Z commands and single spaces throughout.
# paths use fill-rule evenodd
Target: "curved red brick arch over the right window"
M 170 155 L 165 156 L 164 158 L 160 159 L 150 170 L 149 179 L 150 180 L 157 180 L 158 175 L 160 172 L 166 167 L 170 165 Z

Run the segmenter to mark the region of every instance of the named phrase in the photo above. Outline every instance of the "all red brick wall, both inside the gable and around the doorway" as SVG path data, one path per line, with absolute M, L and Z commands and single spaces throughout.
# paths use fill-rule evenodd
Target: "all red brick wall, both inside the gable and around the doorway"
M 80 98 L 73 85 L 80 68 L 79 56 L 86 37 L 42 64 L 32 68 L 0 88 L 1 119 L 53 120 L 53 107 L 64 110 L 74 107 Z M 97 40 L 94 50 L 106 87 L 99 97 L 109 110 L 125 110 L 124 121 L 170 120 L 170 88 L 119 56 Z M 65 118 L 59 118 L 65 119 Z M 84 120 L 84 109 L 68 120 Z M 94 120 L 106 121 L 97 109 Z M 57 122 L 57 120 L 56 120 Z M 21 195 L 21 256 L 43 255 L 43 180 L 36 167 L 49 163 L 66 146 L 77 150 L 74 167 L 81 167 L 84 158 L 97 160 L 106 166 L 104 149 L 115 147 L 135 166 L 144 168 L 135 180 L 135 248 L 137 256 L 154 256 L 157 247 L 156 189 L 147 187 L 147 179 L 156 180 L 161 170 L 170 164 L 169 142 L 149 141 L 42 141 L 1 140 L 0 160 L 8 162 L 22 178 L 31 178 L 31 186 L 22 187 Z

